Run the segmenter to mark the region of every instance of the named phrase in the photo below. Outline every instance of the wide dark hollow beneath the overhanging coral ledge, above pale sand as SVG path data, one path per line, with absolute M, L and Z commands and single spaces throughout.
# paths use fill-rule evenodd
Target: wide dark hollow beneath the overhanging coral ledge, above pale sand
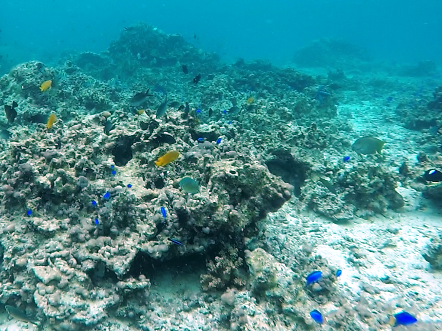
M 169 249 L 177 248 L 170 246 Z M 195 273 L 195 270 L 205 270 L 205 268 L 205 258 L 202 254 L 178 256 L 168 261 L 162 261 L 152 259 L 147 253 L 138 252 L 128 273 L 124 275 L 124 279 L 130 277 L 137 279 L 140 275 L 144 275 L 147 279 L 155 280 L 155 278 L 162 277 L 163 273 Z

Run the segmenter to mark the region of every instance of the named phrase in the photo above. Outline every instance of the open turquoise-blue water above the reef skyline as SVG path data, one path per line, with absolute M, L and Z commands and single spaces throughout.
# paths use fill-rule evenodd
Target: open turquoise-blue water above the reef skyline
M 438 0 L 3 0 L 0 9 L 3 72 L 30 59 L 56 61 L 65 51 L 106 50 L 139 21 L 227 60 L 285 64 L 321 37 L 340 37 L 398 62 L 441 61 L 442 53 Z

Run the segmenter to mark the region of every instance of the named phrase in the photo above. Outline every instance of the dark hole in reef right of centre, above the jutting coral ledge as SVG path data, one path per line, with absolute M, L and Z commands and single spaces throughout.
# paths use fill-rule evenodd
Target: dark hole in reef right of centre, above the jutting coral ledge
M 308 165 L 295 160 L 290 151 L 275 150 L 271 151 L 275 156 L 266 162 L 269 171 L 280 176 L 286 183 L 292 184 L 295 187 L 295 196 L 301 195 L 301 187 L 307 179 Z

